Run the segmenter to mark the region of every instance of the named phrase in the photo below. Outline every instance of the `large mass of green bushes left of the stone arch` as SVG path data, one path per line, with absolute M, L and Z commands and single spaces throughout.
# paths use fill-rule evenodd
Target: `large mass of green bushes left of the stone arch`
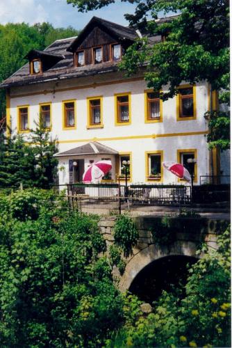
M 63 200 L 38 189 L 0 196 L 1 347 L 102 347 L 122 323 L 97 220 Z

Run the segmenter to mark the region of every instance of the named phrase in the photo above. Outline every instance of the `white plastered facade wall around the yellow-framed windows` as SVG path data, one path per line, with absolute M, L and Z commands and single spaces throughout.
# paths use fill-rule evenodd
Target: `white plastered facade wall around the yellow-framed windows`
M 117 74 L 109 79 L 116 79 Z M 107 77 L 99 77 L 101 84 L 107 82 Z M 176 161 L 176 152 L 179 149 L 197 149 L 198 181 L 200 175 L 209 175 L 209 159 L 204 134 L 165 136 L 174 133 L 206 132 L 207 122 L 204 113 L 208 109 L 208 86 L 202 82 L 197 84 L 197 119 L 176 121 L 176 97 L 163 102 L 163 122 L 144 122 L 144 90 L 147 89 L 144 80 L 122 81 L 106 86 L 81 88 L 97 81 L 97 77 L 76 79 L 75 81 L 59 82 L 55 84 L 41 84 L 31 87 L 14 88 L 14 95 L 10 100 L 10 115 L 13 131 L 17 127 L 17 106 L 29 104 L 29 122 L 33 126 L 34 120 L 39 117 L 39 103 L 52 102 L 52 131 L 53 139 L 59 141 L 59 152 L 63 152 L 88 141 L 99 141 L 119 152 L 132 152 L 133 182 L 145 181 L 145 151 L 163 150 L 164 161 Z M 184 81 L 183 81 L 184 83 Z M 58 91 L 60 88 L 75 88 Z M 46 90 L 53 89 L 53 93 Z M 165 91 L 167 88 L 163 88 Z M 17 94 L 31 93 L 43 90 L 37 95 L 17 97 Z M 131 92 L 131 125 L 115 126 L 115 93 Z M 103 128 L 87 129 L 87 97 L 103 96 Z M 62 100 L 76 100 L 76 129 L 63 130 Z M 163 134 L 163 137 L 152 139 L 152 134 Z M 27 135 L 26 135 L 27 136 Z M 128 139 L 129 136 L 140 136 L 140 139 Z M 120 139 L 115 139 L 115 138 Z M 72 157 L 73 158 L 73 157 Z M 67 159 L 60 159 L 60 165 L 65 163 L 65 171 L 60 173 L 60 184 L 68 182 Z M 176 178 L 164 170 L 164 182 L 175 183 Z

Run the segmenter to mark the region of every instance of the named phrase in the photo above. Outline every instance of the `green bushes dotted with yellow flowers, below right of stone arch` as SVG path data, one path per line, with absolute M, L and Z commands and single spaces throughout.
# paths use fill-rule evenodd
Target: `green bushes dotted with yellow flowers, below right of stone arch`
M 184 287 L 163 292 L 145 317 L 126 317 L 108 347 L 231 347 L 230 228 L 190 269 Z M 126 303 L 124 313 L 131 313 Z

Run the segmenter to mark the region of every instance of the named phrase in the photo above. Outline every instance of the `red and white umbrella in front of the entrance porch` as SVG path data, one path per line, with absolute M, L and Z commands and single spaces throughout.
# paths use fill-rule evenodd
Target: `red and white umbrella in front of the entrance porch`
M 85 173 L 83 173 L 83 182 L 85 182 L 85 184 L 97 184 L 111 168 L 112 163 L 108 160 L 98 161 L 91 164 L 91 166 L 86 169 Z

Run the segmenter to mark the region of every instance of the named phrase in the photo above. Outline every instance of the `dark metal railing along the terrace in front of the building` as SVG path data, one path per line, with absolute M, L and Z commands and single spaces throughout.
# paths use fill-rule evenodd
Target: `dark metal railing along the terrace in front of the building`
M 66 184 L 69 207 L 92 214 L 120 214 L 138 205 L 188 205 L 191 187 L 181 185 Z

